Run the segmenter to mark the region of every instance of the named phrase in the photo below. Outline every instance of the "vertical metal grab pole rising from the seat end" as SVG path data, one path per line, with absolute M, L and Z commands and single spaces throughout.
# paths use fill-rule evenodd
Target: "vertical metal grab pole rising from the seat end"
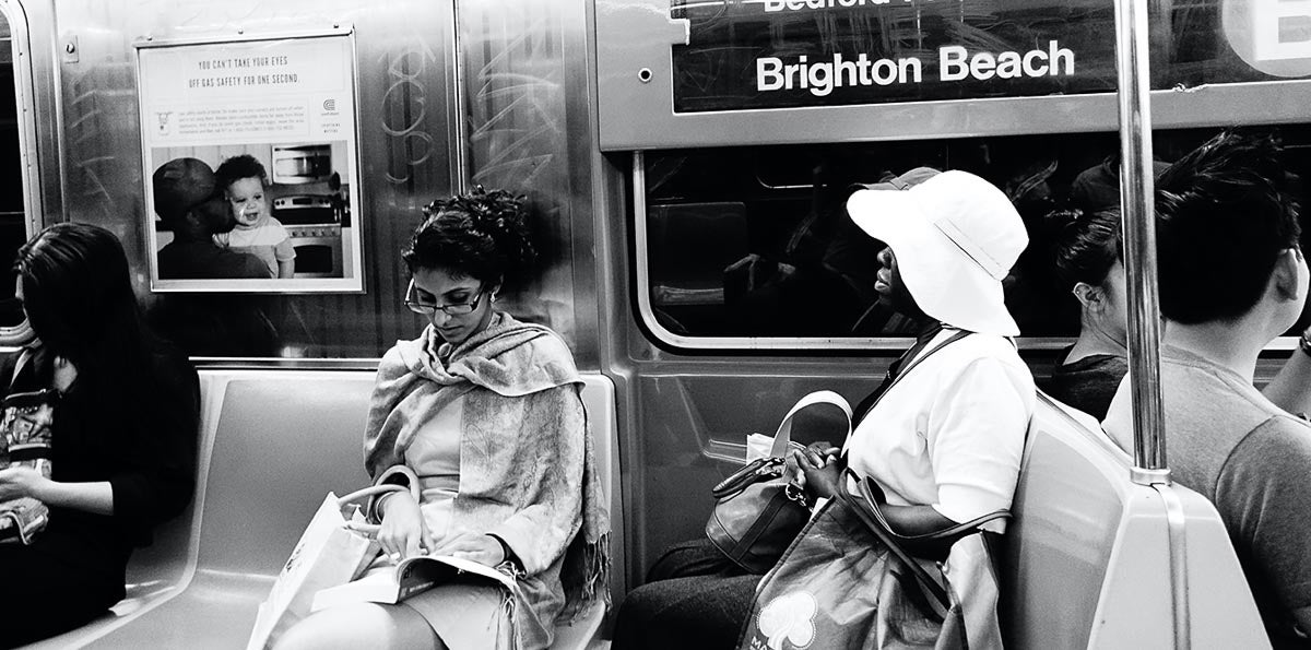
M 1147 3 L 1116 0 L 1120 201 L 1129 297 L 1129 377 L 1134 402 L 1134 482 L 1168 484 L 1160 404 L 1160 308 L 1151 153 Z

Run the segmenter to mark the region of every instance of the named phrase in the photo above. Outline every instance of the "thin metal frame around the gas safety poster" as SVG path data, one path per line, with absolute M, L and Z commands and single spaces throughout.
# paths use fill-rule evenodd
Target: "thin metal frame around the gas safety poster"
M 151 169 L 156 164 L 163 164 L 164 161 L 153 160 L 151 152 L 151 139 L 146 136 L 147 111 L 149 104 L 147 100 L 151 97 L 149 89 L 144 86 L 142 69 L 142 54 L 147 50 L 160 50 L 160 48 L 206 48 L 214 46 L 231 46 L 231 45 L 249 45 L 258 42 L 290 42 L 290 41 L 305 41 L 305 39 L 345 39 L 346 43 L 346 56 L 349 64 L 349 93 L 350 105 L 353 111 L 353 119 L 350 128 L 343 134 L 346 138 L 345 145 L 349 149 L 347 160 L 350 161 L 350 169 L 345 183 L 349 183 L 350 198 L 346 202 L 346 207 L 351 214 L 351 233 L 347 237 L 340 232 L 341 246 L 337 249 L 337 254 L 345 254 L 346 245 L 350 244 L 350 253 L 345 254 L 342 259 L 343 275 L 341 278 L 270 278 L 270 279 L 244 279 L 244 278 L 215 278 L 215 279 L 163 279 L 159 277 L 159 246 L 156 237 L 156 212 L 155 212 L 155 199 L 152 190 L 152 174 Z M 363 218 L 363 206 L 367 204 L 367 190 L 364 190 L 362 183 L 362 152 L 361 152 L 361 97 L 359 97 L 359 55 L 355 42 L 355 29 L 350 24 L 334 24 L 332 28 L 317 28 L 317 29 L 302 29 L 302 30 L 278 30 L 278 31 L 261 31 L 261 33 L 244 33 L 241 30 L 236 33 L 222 33 L 222 34 L 206 34 L 185 38 L 153 38 L 144 37 L 132 43 L 132 73 L 135 75 L 136 85 L 136 98 L 138 98 L 138 118 L 142 124 L 142 190 L 143 190 L 143 228 L 142 240 L 143 250 L 147 257 L 147 267 L 149 273 L 149 291 L 152 294 L 170 294 L 170 292 L 198 292 L 198 294 L 366 294 L 367 292 L 367 277 L 364 273 L 366 256 L 363 250 L 366 237 L 366 219 Z M 291 144 L 291 142 L 288 142 Z M 270 143 L 271 145 L 271 143 Z M 218 168 L 218 162 L 212 165 Z M 273 182 L 274 172 L 270 169 L 270 183 Z M 343 185 L 345 185 L 343 183 Z M 269 204 L 271 212 L 271 199 L 265 199 Z M 345 274 L 345 266 L 350 265 L 351 274 Z

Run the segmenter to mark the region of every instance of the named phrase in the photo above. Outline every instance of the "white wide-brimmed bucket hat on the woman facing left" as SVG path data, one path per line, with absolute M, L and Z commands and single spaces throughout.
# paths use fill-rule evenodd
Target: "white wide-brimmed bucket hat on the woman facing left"
M 1013 337 L 1002 279 L 1029 236 L 1011 201 L 968 172 L 943 172 L 909 190 L 861 190 L 847 214 L 888 244 L 906 290 L 926 315 L 947 325 Z

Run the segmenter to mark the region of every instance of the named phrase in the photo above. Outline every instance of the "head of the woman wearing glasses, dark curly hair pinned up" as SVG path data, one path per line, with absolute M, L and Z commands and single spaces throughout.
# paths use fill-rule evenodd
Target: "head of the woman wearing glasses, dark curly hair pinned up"
M 523 279 L 536 258 L 523 199 L 477 187 L 434 201 L 423 215 L 401 253 L 412 277 L 405 301 L 458 345 L 488 326 L 497 292 Z

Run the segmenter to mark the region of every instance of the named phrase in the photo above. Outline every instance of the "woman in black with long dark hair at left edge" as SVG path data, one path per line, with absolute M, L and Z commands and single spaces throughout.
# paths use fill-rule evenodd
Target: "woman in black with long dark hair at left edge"
M 0 359 L 0 387 L 60 396 L 51 476 L 0 469 L 0 501 L 50 508 L 30 545 L 0 544 L 0 646 L 76 628 L 123 598 L 132 548 L 191 499 L 199 413 L 195 368 L 143 324 L 113 233 L 51 225 L 14 271 L 39 345 Z

